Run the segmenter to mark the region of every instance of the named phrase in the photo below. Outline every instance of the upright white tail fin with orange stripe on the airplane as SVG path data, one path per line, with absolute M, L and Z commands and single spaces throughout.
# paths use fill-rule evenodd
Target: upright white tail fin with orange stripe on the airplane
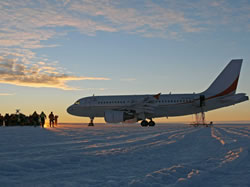
M 243 59 L 233 59 L 219 74 L 209 88 L 202 93 L 206 97 L 235 94 Z

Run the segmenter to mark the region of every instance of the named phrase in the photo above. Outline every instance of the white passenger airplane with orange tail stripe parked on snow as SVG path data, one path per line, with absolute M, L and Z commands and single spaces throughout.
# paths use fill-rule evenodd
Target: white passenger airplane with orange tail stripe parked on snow
M 140 122 L 155 126 L 153 118 L 202 114 L 249 100 L 245 93 L 236 93 L 243 59 L 233 59 L 214 82 L 201 93 L 90 96 L 77 100 L 67 108 L 74 116 L 104 117 L 106 123 Z

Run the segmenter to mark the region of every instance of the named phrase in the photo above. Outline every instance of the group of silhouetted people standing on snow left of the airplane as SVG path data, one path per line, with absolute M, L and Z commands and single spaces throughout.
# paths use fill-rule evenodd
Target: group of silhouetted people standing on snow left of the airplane
M 45 120 L 47 116 L 44 112 L 37 114 L 35 111 L 32 115 L 26 116 L 22 113 L 16 114 L 0 114 L 0 126 L 41 126 L 44 128 Z M 54 115 L 53 112 L 49 114 L 49 125 L 54 127 L 57 125 L 58 115 Z

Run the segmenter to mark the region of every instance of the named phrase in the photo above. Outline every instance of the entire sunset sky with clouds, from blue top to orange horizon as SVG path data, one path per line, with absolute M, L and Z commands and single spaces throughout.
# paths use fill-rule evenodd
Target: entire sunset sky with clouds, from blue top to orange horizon
M 66 112 L 79 98 L 198 93 L 235 58 L 237 92 L 249 94 L 247 0 L 0 1 L 1 114 L 53 111 L 60 122 L 86 123 Z M 244 102 L 207 119 L 250 121 L 249 109 Z

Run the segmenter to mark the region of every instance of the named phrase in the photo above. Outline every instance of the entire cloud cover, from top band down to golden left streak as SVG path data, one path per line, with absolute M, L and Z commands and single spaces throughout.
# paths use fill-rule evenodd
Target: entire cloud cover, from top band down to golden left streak
M 50 40 L 72 30 L 91 36 L 102 31 L 171 39 L 224 26 L 250 31 L 246 0 L 5 0 L 0 1 L 0 17 L 0 82 L 61 89 L 74 89 L 68 81 L 106 80 L 67 75 L 34 52 L 57 46 Z

